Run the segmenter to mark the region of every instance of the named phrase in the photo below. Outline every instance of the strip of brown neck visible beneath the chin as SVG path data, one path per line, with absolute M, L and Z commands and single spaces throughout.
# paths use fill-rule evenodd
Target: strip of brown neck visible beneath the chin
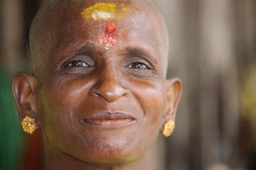
M 147 151 L 139 159 L 136 159 L 129 163 L 124 164 L 93 164 L 80 161 L 66 153 L 58 151 L 57 149 L 49 149 L 46 145 L 46 159 L 47 159 L 47 169 L 140 169 L 148 170 L 150 162 L 150 151 Z

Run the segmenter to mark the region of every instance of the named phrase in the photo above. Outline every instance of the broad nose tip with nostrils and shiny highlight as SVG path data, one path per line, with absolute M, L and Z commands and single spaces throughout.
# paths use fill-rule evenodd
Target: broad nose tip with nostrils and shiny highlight
M 129 92 L 129 89 L 125 88 L 118 78 L 113 77 L 102 78 L 90 90 L 92 95 L 101 96 L 108 102 L 128 96 Z

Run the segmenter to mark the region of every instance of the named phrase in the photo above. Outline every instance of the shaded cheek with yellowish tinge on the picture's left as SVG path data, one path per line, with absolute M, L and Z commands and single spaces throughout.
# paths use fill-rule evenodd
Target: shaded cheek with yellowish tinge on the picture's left
M 62 150 L 63 143 L 72 143 L 66 136 L 73 135 L 73 113 L 82 95 L 86 93 L 87 86 L 79 85 L 77 81 L 65 80 L 48 84 L 38 95 L 41 127 L 46 139 Z

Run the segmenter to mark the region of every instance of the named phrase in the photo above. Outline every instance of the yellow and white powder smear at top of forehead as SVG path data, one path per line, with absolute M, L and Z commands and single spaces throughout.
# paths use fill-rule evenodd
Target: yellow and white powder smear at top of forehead
M 110 3 L 96 3 L 84 9 L 81 14 L 84 19 L 124 19 L 128 14 L 137 12 L 134 8 L 125 5 Z

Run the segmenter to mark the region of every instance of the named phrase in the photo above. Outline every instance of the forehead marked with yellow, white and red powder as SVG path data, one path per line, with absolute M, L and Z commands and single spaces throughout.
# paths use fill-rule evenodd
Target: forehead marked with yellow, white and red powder
M 123 48 L 136 47 L 159 58 L 159 37 L 154 15 L 151 13 L 148 17 L 150 11 L 127 2 L 90 1 L 66 5 L 58 10 L 53 56 L 75 53 L 87 44 L 94 44 L 98 50 L 122 51 Z M 109 26 L 114 26 L 116 30 L 109 31 Z

